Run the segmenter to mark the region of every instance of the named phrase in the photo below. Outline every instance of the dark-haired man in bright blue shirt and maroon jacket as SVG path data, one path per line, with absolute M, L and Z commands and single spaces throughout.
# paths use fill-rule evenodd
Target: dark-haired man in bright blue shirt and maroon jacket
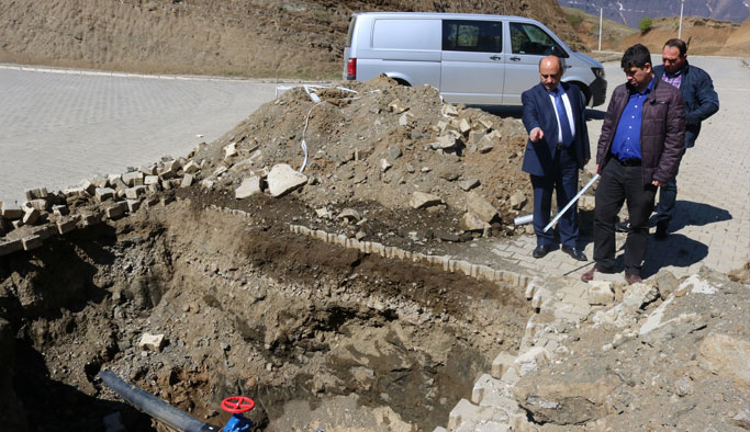
M 659 186 L 678 173 L 684 152 L 685 104 L 680 91 L 657 80 L 651 53 L 634 45 L 620 62 L 627 83 L 612 93 L 596 149 L 593 269 L 609 273 L 615 264 L 615 221 L 627 202 L 631 228 L 625 241 L 625 280 L 641 282 L 640 270 L 648 245 L 648 219 Z

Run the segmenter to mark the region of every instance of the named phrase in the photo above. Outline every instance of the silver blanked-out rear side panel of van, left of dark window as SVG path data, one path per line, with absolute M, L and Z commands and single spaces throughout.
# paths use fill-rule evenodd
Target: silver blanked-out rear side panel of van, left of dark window
M 440 20 L 376 20 L 372 48 L 440 50 Z

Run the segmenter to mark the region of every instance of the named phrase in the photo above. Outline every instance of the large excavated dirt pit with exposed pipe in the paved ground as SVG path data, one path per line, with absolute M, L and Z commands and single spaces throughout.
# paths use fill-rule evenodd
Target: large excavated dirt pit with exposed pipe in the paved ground
M 184 200 L 0 263 L 4 424 L 103 430 L 117 412 L 156 430 L 103 386 L 109 370 L 215 425 L 244 395 L 256 430 L 432 431 L 517 350 L 517 288 L 295 236 L 261 208 Z M 164 346 L 143 351 L 145 333 Z

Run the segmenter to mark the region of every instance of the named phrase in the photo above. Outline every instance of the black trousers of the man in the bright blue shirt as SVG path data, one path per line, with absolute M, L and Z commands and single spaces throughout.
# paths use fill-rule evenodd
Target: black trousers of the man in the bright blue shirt
M 627 202 L 630 230 L 625 241 L 625 272 L 640 275 L 656 195 L 657 186 L 643 185 L 640 166 L 624 167 L 616 159 L 604 166 L 594 209 L 594 261 L 598 269 L 611 271 L 615 264 L 615 221 Z

